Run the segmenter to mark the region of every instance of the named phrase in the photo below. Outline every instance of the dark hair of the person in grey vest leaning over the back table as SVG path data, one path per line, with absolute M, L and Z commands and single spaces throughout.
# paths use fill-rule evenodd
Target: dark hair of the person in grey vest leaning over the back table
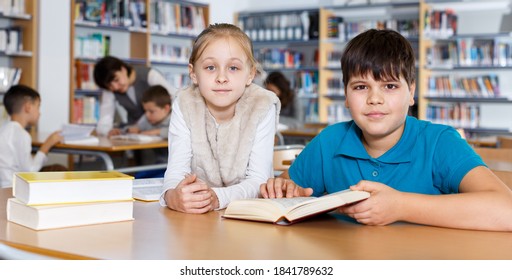
M 128 76 L 130 76 L 133 67 L 117 57 L 103 57 L 94 66 L 94 82 L 100 88 L 108 90 L 108 86 L 114 80 L 116 72 L 121 71 L 123 67 L 126 68 L 126 72 Z

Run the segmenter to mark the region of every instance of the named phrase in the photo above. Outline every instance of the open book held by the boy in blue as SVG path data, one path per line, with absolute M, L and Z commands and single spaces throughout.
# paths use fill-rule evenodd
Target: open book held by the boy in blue
M 231 202 L 223 217 L 289 225 L 368 197 L 365 191 L 344 190 L 321 197 L 242 199 Z

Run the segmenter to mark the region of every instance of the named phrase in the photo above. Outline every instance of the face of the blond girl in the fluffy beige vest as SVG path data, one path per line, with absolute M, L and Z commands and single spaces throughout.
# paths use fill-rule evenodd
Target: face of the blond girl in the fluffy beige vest
M 242 47 L 231 38 L 210 42 L 195 64 L 189 65 L 189 72 L 218 122 L 233 117 L 238 99 L 256 73 Z

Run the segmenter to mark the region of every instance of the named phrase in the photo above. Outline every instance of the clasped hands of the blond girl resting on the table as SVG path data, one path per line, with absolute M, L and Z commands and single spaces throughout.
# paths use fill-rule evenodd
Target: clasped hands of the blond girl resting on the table
M 219 200 L 212 188 L 197 179 L 197 175 L 188 175 L 175 189 L 165 193 L 165 201 L 170 209 L 192 214 L 202 214 L 219 207 Z

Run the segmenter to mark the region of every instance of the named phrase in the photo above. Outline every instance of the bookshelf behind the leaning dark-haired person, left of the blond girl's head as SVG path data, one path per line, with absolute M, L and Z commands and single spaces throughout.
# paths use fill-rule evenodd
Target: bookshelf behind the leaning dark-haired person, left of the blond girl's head
M 74 0 L 70 14 L 69 121 L 95 124 L 101 94 L 92 74 L 95 62 L 116 56 L 155 68 L 172 86 L 183 87 L 192 43 L 208 24 L 209 6 L 180 0 Z

